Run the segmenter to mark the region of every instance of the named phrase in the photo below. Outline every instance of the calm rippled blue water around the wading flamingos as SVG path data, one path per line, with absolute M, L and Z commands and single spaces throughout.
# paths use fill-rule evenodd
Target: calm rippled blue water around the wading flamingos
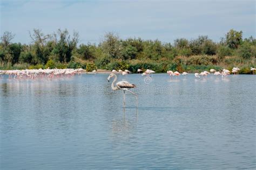
M 255 75 L 0 79 L 0 169 L 256 168 Z

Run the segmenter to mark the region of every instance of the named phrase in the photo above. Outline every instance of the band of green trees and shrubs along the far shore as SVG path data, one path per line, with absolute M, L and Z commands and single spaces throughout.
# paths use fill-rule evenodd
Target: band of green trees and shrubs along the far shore
M 255 67 L 256 39 L 242 38 L 242 31 L 230 30 L 220 42 L 207 36 L 184 38 L 174 43 L 140 38 L 120 39 L 106 33 L 98 44 L 80 44 L 78 32 L 67 30 L 44 34 L 34 29 L 29 33 L 31 44 L 11 42 L 11 32 L 4 32 L 0 43 L 0 69 L 84 68 L 93 69 L 152 69 L 200 72 L 210 68 L 241 68 L 240 74 L 251 74 Z

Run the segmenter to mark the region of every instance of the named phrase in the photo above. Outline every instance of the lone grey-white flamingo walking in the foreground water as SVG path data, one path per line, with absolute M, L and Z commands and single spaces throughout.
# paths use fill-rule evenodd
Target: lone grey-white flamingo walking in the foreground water
M 111 77 L 114 77 L 114 80 L 111 84 L 112 90 L 124 90 L 124 107 L 125 107 L 125 91 L 129 91 L 131 94 L 133 94 L 136 97 L 137 108 L 138 108 L 138 95 L 128 90 L 130 88 L 135 88 L 136 86 L 127 81 L 119 81 L 116 83 L 116 86 L 114 86 L 114 83 L 117 81 L 117 75 L 114 73 L 111 73 L 109 77 L 107 77 L 107 80 L 109 81 Z

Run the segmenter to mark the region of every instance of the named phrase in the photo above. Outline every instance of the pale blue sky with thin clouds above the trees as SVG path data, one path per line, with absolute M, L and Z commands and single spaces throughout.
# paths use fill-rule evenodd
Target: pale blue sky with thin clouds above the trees
M 79 32 L 79 43 L 98 44 L 104 34 L 120 38 L 196 39 L 207 35 L 214 41 L 234 29 L 255 38 L 255 1 L 71 1 L 0 0 L 1 36 L 15 34 L 13 42 L 29 44 L 29 31 L 45 34 L 58 29 Z

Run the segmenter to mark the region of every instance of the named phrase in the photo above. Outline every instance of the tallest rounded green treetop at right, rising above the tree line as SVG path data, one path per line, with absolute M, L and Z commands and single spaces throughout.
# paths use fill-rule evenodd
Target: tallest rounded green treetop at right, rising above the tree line
M 231 29 L 227 34 L 226 34 L 226 39 L 225 39 L 226 45 L 230 48 L 238 48 L 238 46 L 242 42 L 242 31 L 235 31 Z

